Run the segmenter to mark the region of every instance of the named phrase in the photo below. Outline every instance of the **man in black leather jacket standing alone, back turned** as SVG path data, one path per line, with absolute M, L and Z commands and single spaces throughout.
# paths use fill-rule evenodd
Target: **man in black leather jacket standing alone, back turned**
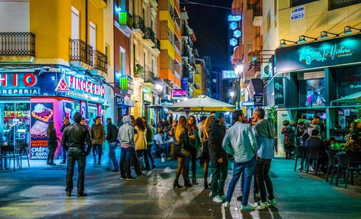
M 78 161 L 78 197 L 87 196 L 84 192 L 84 172 L 86 156 L 90 153 L 93 141 L 91 139 L 90 131 L 85 126 L 80 124 L 82 115 L 79 112 L 74 114 L 75 123 L 68 125 L 63 132 L 61 140 L 62 146 L 68 151 L 68 164 L 66 174 L 66 195 L 71 196 L 73 190 L 73 175 L 75 161 Z M 85 151 L 85 144 L 87 149 Z

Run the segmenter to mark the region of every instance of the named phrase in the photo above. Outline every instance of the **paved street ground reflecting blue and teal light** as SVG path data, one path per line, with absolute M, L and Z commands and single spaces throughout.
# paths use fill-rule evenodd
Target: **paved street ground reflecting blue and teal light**
M 211 190 L 203 188 L 200 167 L 199 185 L 173 189 L 173 160 L 157 159 L 156 168 L 145 177 L 122 180 L 119 173 L 105 170 L 105 156 L 101 166 L 93 166 L 89 156 L 85 175 L 89 196 L 79 198 L 76 189 L 72 197 L 65 196 L 65 164 L 47 166 L 45 162 L 32 160 L 27 167 L 24 161 L 23 169 L 0 171 L 0 218 L 361 218 L 359 179 L 347 189 L 342 187 L 343 180 L 336 187 L 324 181 L 324 174 L 293 171 L 294 160 L 283 157 L 272 161 L 270 171 L 277 205 L 255 211 L 240 210 L 239 185 L 230 208 L 213 202 Z M 232 166 L 231 162 L 226 191 Z M 183 184 L 182 176 L 179 183 Z M 253 191 L 250 202 L 254 202 Z

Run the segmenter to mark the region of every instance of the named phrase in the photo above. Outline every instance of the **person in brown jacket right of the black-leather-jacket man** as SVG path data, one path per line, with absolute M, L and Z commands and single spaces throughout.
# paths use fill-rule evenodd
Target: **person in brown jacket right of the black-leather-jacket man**
M 100 123 L 100 116 L 95 117 L 95 124 L 91 127 L 91 136 L 93 137 L 93 155 L 94 155 L 94 165 L 101 164 L 101 155 L 102 155 L 102 145 L 105 140 L 105 129 L 103 124 Z M 95 156 L 95 150 L 98 149 L 98 162 Z

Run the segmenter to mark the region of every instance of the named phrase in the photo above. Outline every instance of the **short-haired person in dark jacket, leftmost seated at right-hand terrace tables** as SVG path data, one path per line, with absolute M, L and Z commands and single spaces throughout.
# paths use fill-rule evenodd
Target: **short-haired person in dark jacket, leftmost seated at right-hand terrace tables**
M 318 163 L 320 163 L 320 169 L 325 172 L 326 171 L 326 163 L 328 160 L 328 156 L 326 153 L 327 146 L 325 142 L 319 138 L 319 130 L 313 129 L 311 131 L 311 136 L 306 140 L 306 147 L 316 147 L 319 151 L 318 155 Z M 311 168 L 312 171 L 312 168 Z

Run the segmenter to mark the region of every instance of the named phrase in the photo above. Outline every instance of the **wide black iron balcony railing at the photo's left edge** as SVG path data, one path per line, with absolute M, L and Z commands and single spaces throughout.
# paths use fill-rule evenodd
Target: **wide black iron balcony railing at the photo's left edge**
M 35 57 L 35 34 L 32 32 L 0 32 L 0 55 Z

